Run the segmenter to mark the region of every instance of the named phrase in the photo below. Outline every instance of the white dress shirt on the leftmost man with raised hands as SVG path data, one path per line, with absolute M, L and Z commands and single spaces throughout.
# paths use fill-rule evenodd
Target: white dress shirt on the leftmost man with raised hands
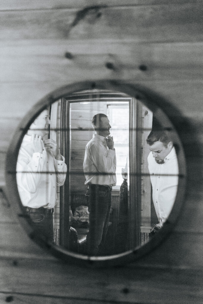
M 31 136 L 25 135 L 21 144 L 17 165 L 17 186 L 23 206 L 54 208 L 58 202 L 57 185 L 65 182 L 67 167 L 63 156 L 58 161 L 46 152 L 34 152 Z M 44 173 L 42 173 L 44 172 Z

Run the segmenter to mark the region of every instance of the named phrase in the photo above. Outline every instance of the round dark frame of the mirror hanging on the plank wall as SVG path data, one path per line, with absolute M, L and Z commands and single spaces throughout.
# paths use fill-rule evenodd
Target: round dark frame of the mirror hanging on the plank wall
M 116 92 L 126 93 L 131 97 L 135 97 L 139 101 L 143 102 L 151 111 L 156 112 L 161 109 L 165 113 L 165 117 L 159 119 L 159 122 L 163 125 L 169 123 L 173 127 L 179 136 L 180 150 L 177 155 L 178 166 L 179 166 L 179 181 L 176 200 L 173 205 L 173 209 L 164 223 L 163 227 L 160 229 L 156 235 L 149 240 L 147 243 L 140 247 L 136 247 L 133 250 L 128 250 L 120 254 L 114 254 L 109 256 L 87 256 L 82 254 L 77 254 L 73 251 L 66 250 L 60 246 L 45 241 L 43 235 L 36 233 L 32 221 L 23 213 L 22 203 L 19 197 L 17 183 L 16 183 L 16 162 L 18 157 L 19 148 L 23 140 L 26 131 L 30 127 L 34 119 L 43 111 L 48 105 L 58 99 L 68 96 L 75 92 L 81 92 L 84 90 L 101 89 L 101 90 L 111 90 Z M 97 80 L 97 81 L 84 81 L 79 83 L 74 83 L 72 85 L 67 85 L 57 90 L 51 92 L 44 98 L 42 98 L 36 105 L 26 114 L 21 123 L 16 129 L 13 139 L 10 143 L 7 157 L 6 157 L 6 192 L 9 202 L 12 204 L 12 208 L 16 212 L 21 225 L 24 227 L 31 239 L 33 239 L 38 245 L 47 249 L 51 254 L 56 257 L 60 257 L 62 260 L 80 264 L 82 266 L 93 266 L 93 267 L 108 267 L 118 264 L 126 264 L 145 254 L 149 254 L 153 249 L 163 242 L 163 240 L 169 235 L 173 230 L 178 216 L 180 214 L 183 202 L 185 199 L 185 187 L 186 187 L 186 162 L 184 156 L 184 150 L 186 150 L 185 142 L 185 128 L 187 124 L 184 118 L 181 116 L 180 112 L 173 107 L 169 102 L 167 102 L 163 97 L 160 97 L 151 90 L 144 88 L 140 85 L 132 85 L 124 81 L 117 80 Z M 185 149 L 184 149 L 185 148 Z

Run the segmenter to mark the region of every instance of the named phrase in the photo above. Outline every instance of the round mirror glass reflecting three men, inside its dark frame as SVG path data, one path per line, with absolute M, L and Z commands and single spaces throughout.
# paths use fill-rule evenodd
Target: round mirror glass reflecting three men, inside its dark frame
M 178 164 L 177 139 L 157 113 L 126 94 L 92 90 L 64 96 L 33 121 L 16 179 L 24 212 L 47 240 L 103 256 L 159 231 Z

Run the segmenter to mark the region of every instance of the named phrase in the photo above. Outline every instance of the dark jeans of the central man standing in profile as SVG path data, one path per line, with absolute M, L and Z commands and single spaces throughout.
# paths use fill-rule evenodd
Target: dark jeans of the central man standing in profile
M 111 190 L 109 186 L 89 185 L 86 202 L 89 210 L 89 233 L 86 249 L 89 255 L 98 255 L 103 249 L 110 217 Z

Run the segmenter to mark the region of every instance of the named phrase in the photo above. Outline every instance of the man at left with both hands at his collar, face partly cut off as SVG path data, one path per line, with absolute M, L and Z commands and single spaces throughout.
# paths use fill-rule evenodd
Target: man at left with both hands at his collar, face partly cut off
M 49 113 L 44 110 L 24 136 L 17 160 L 16 179 L 21 202 L 37 230 L 53 241 L 53 212 L 57 185 L 65 182 L 67 167 L 57 143 L 48 139 Z M 43 173 L 44 172 L 44 173 Z

